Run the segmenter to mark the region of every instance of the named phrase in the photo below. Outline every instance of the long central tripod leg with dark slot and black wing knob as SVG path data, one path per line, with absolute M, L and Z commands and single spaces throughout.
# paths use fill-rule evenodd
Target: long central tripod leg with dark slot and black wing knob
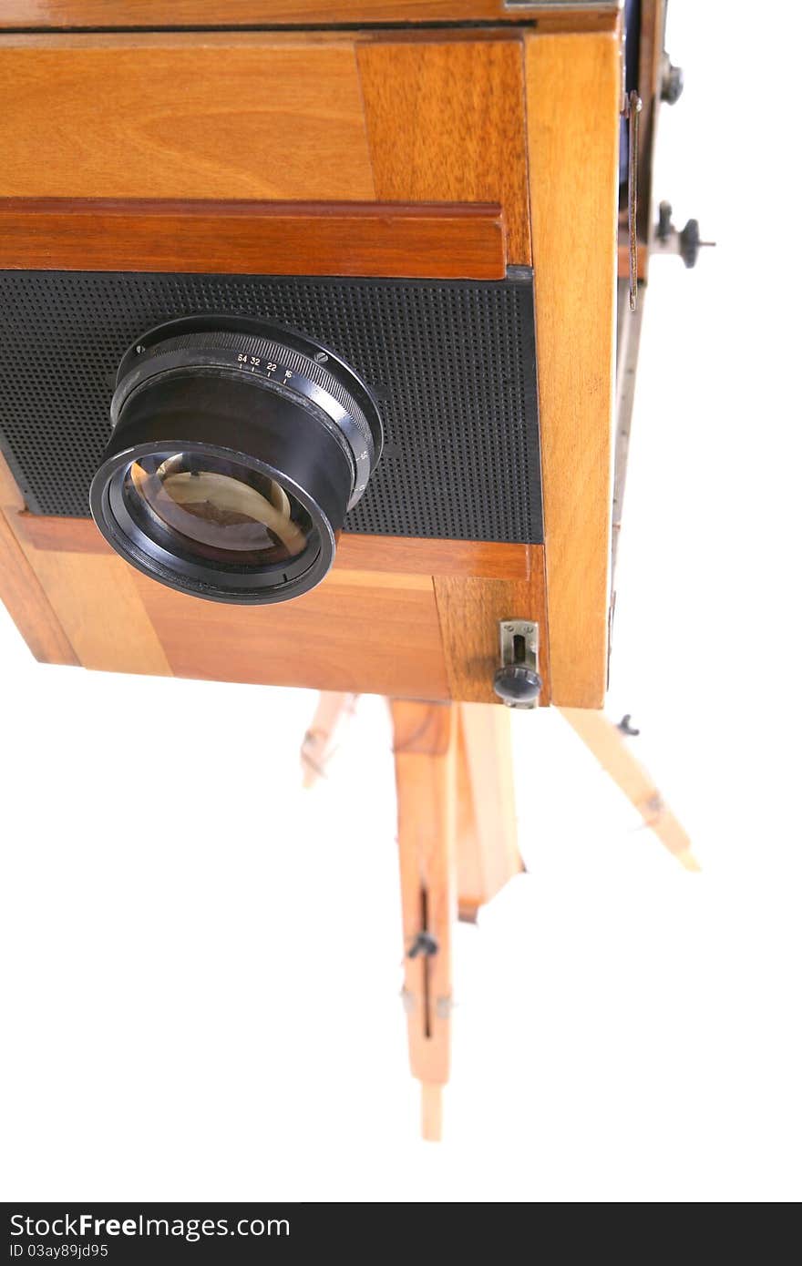
M 451 1055 L 451 931 L 456 918 L 456 710 L 391 704 L 404 931 L 404 1006 L 423 1138 L 442 1128 Z

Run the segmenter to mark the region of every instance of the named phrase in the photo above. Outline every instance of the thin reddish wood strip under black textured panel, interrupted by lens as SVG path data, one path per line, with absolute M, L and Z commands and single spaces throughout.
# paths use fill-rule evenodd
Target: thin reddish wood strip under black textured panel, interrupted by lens
M 91 519 L 16 515 L 15 530 L 37 549 L 111 553 Z M 497 541 L 436 541 L 426 537 L 371 537 L 345 533 L 334 570 L 409 572 L 421 576 L 492 576 L 526 580 L 530 547 Z

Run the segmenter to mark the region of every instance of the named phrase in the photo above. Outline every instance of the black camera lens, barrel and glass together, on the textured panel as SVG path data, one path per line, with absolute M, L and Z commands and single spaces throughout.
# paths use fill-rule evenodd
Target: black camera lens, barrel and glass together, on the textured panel
M 98 527 L 162 584 L 229 603 L 317 585 L 381 447 L 375 401 L 321 343 L 248 318 L 186 318 L 125 353 Z

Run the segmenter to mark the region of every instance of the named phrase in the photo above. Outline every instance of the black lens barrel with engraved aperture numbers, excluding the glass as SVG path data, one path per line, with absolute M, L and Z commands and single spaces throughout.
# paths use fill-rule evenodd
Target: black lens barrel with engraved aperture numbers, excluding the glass
M 228 603 L 283 601 L 323 579 L 381 448 L 374 398 L 334 352 L 248 318 L 188 318 L 144 334 L 120 363 L 111 419 L 90 492 L 98 527 L 141 571 Z M 184 538 L 148 533 L 123 485 L 133 462 L 156 453 L 228 458 L 277 481 L 312 519 L 317 549 L 272 566 L 215 566 Z

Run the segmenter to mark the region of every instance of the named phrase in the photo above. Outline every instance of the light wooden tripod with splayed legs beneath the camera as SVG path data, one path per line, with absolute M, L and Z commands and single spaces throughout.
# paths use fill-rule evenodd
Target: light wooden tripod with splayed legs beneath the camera
M 302 746 L 305 786 L 326 771 L 356 695 L 322 694 Z M 623 734 L 602 713 L 561 709 L 661 843 L 697 870 L 691 841 Z M 487 704 L 391 700 L 409 1065 L 423 1138 L 442 1132 L 451 1056 L 451 936 L 523 870 L 516 830 L 509 713 Z

